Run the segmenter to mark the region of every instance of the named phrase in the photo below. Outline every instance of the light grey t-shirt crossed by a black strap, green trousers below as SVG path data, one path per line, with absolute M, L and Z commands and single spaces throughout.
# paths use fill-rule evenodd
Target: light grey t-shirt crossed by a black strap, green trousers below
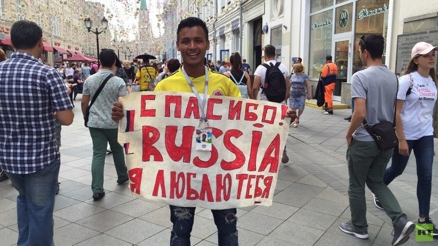
M 85 80 L 83 95 L 89 95 L 90 102 L 97 89 L 110 73 L 112 73 L 111 70 L 101 69 Z M 111 108 L 114 102 L 117 102 L 119 96 L 127 94 L 128 91 L 123 79 L 116 76 L 110 78 L 90 108 L 88 126 L 104 129 L 117 128 L 118 124 L 111 119 Z

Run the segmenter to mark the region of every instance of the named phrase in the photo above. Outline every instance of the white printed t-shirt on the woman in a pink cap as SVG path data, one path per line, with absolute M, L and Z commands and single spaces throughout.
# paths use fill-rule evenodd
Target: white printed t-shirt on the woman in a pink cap
M 409 75 L 412 76 L 412 82 Z M 411 94 L 406 96 L 410 86 Z M 404 100 L 400 117 L 406 140 L 433 135 L 432 112 L 437 102 L 437 86 L 432 78 L 424 78 L 417 71 L 400 77 L 397 99 Z

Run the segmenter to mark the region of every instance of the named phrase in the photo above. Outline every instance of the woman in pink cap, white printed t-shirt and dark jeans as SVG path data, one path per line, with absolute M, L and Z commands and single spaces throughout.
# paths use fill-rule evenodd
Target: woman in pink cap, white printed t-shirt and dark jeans
M 394 148 L 391 166 L 386 169 L 383 182 L 388 185 L 403 173 L 411 150 L 417 161 L 417 198 L 419 220 L 433 224 L 429 218 L 432 188 L 432 163 L 434 159 L 434 128 L 432 113 L 437 102 L 437 78 L 434 47 L 426 42 L 417 43 L 412 49 L 411 61 L 399 78 L 397 94 L 396 132 L 399 147 Z M 377 206 L 377 204 L 376 204 Z M 428 228 L 432 229 L 432 228 Z M 433 234 L 438 230 L 433 227 Z

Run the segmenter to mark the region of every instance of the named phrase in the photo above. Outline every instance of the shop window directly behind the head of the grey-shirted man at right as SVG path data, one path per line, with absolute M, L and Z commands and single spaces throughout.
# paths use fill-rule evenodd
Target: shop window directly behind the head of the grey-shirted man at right
M 359 57 L 361 35 L 380 34 L 385 39 L 382 62 L 385 63 L 386 34 L 388 29 L 389 0 L 359 0 L 356 2 L 356 24 L 352 74 L 365 69 Z

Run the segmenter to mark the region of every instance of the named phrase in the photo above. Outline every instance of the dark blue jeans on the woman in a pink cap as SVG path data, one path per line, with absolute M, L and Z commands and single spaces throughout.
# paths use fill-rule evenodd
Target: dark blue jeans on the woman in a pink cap
M 419 140 L 406 140 L 409 154 L 414 150 L 417 161 L 417 198 L 420 217 L 429 217 L 430 193 L 432 190 L 432 163 L 434 161 L 434 137 L 424 136 Z M 409 157 L 399 154 L 399 147 L 394 148 L 391 166 L 386 169 L 383 182 L 388 185 L 395 177 L 401 175 Z

